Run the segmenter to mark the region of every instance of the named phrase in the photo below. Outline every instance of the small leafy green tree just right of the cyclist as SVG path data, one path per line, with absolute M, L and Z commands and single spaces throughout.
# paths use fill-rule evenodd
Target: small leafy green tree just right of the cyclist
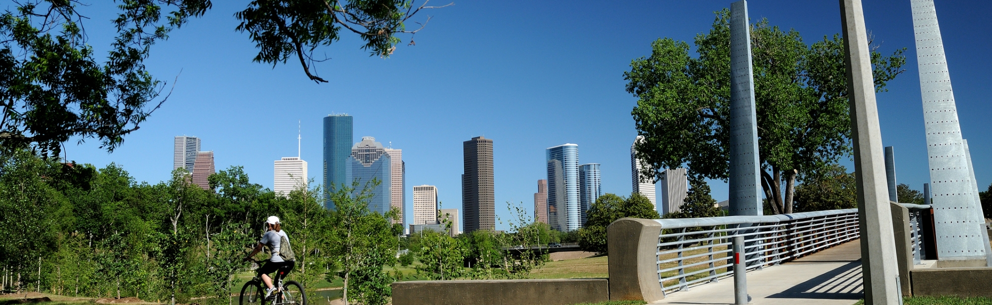
M 349 300 L 361 299 L 366 303 L 378 303 L 388 295 L 366 294 L 370 291 L 388 293 L 388 287 L 369 287 L 366 285 L 388 285 L 382 278 L 372 274 L 374 270 L 382 272 L 383 266 L 393 264 L 396 259 L 396 248 L 399 241 L 401 225 L 391 225 L 389 219 L 394 218 L 397 211 L 387 215 L 372 212 L 368 209 L 372 190 L 379 184 L 377 179 L 359 184 L 358 180 L 350 186 L 342 185 L 334 192 L 327 193 L 334 202 L 334 210 L 330 212 L 328 225 L 335 230 L 327 237 L 327 254 L 336 259 L 336 273 L 328 273 L 327 281 L 334 276 L 344 280 L 342 299 L 347 305 Z M 359 190 L 359 187 L 361 189 Z M 326 190 L 324 190 L 327 192 Z M 350 287 L 357 286 L 358 295 L 348 295 Z

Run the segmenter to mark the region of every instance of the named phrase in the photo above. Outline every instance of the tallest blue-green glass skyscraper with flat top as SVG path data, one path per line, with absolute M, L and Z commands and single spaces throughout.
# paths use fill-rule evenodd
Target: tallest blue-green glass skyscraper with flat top
M 351 185 L 351 146 L 353 119 L 346 114 L 329 115 L 323 118 L 323 189 L 333 192 L 341 185 Z M 328 209 L 334 204 L 324 198 Z

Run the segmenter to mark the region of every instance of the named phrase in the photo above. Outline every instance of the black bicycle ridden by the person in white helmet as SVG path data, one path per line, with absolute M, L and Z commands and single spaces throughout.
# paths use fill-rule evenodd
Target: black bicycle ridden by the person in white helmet
M 252 260 L 260 267 L 262 261 Z M 286 272 L 284 268 L 279 268 L 276 272 L 275 278 L 273 278 L 273 284 L 276 286 L 276 291 L 272 292 L 269 299 L 265 298 L 265 282 L 262 281 L 262 274 L 256 273 L 255 277 L 251 280 L 245 282 L 245 285 L 241 287 L 241 295 L 238 297 L 238 303 L 240 305 L 307 305 L 307 293 L 304 291 L 304 286 L 295 280 L 288 280 L 283 282 L 283 278 L 286 277 Z M 269 301 L 272 301 L 271 303 Z

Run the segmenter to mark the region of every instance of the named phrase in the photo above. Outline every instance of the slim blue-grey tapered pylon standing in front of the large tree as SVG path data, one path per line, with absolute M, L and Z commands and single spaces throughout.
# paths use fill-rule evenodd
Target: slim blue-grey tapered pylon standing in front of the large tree
M 762 215 L 747 1 L 730 4 L 730 215 Z

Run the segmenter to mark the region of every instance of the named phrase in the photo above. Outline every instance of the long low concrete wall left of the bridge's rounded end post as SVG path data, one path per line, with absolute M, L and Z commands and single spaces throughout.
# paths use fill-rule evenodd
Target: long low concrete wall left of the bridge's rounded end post
M 393 305 L 566 305 L 609 300 L 605 278 L 417 280 L 393 283 Z

